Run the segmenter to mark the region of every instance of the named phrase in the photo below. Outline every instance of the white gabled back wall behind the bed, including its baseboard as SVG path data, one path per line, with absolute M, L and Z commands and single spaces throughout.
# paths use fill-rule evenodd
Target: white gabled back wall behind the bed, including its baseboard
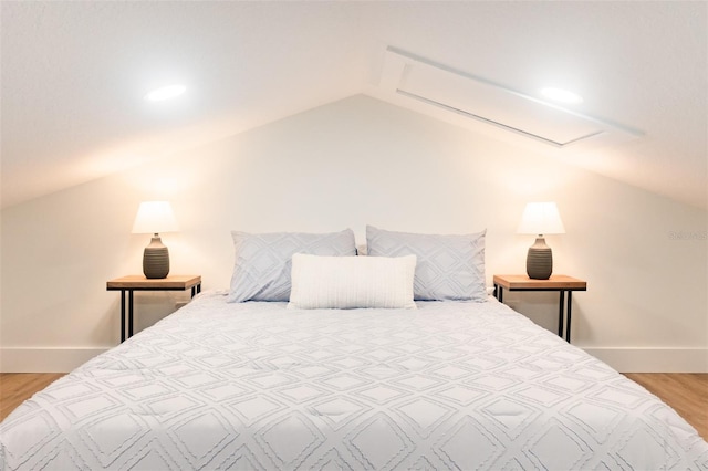
M 180 223 L 163 236 L 171 272 L 204 289 L 228 286 L 232 229 L 350 227 L 363 243 L 367 223 L 487 228 L 491 282 L 524 271 L 524 203 L 554 200 L 566 229 L 548 238 L 554 272 L 589 282 L 573 343 L 624 371 L 708 371 L 706 211 L 365 96 L 3 210 L 0 369 L 66 370 L 118 343 L 105 282 L 140 272 L 149 238 L 131 228 L 149 199 L 170 200 Z M 136 296 L 138 329 L 188 297 Z M 555 294 L 507 301 L 555 331 Z

